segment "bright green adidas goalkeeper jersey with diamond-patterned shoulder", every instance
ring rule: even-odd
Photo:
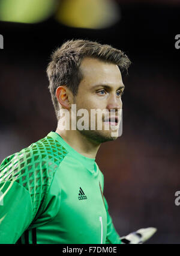
[[[121,243],[103,173],[50,132],[0,166],[0,243]]]

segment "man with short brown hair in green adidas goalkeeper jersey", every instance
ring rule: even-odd
[[[2,161],[0,243],[121,243],[95,156],[101,143],[118,137],[112,131],[122,109],[121,72],[129,66],[123,52],[88,40],[70,40],[53,52],[47,75],[58,126]],[[85,129],[74,106],[86,113]],[[95,111],[94,129],[92,109],[103,111],[101,117]]]

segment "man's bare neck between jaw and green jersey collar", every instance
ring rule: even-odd
[[[81,134],[77,130],[60,130],[58,127],[56,129],[56,133],[58,133],[71,148],[75,149],[80,154],[85,157],[95,158],[97,155],[97,151],[100,148],[100,144],[92,142],[83,134]]]

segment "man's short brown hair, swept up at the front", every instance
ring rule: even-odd
[[[79,83],[83,78],[80,70],[80,63],[84,57],[98,58],[102,61],[118,65],[119,70],[128,71],[131,61],[119,49],[111,45],[101,45],[89,40],[68,40],[57,48],[51,55],[50,63],[47,66],[47,76],[49,78],[49,90],[58,118],[59,104],[56,99],[56,89],[67,86],[74,96],[77,95]]]

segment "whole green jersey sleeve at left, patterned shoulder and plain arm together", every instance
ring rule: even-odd
[[[50,155],[43,139],[10,155],[0,166],[0,243],[16,243],[40,216],[56,169],[63,159]],[[61,154],[59,152],[59,154]]]

